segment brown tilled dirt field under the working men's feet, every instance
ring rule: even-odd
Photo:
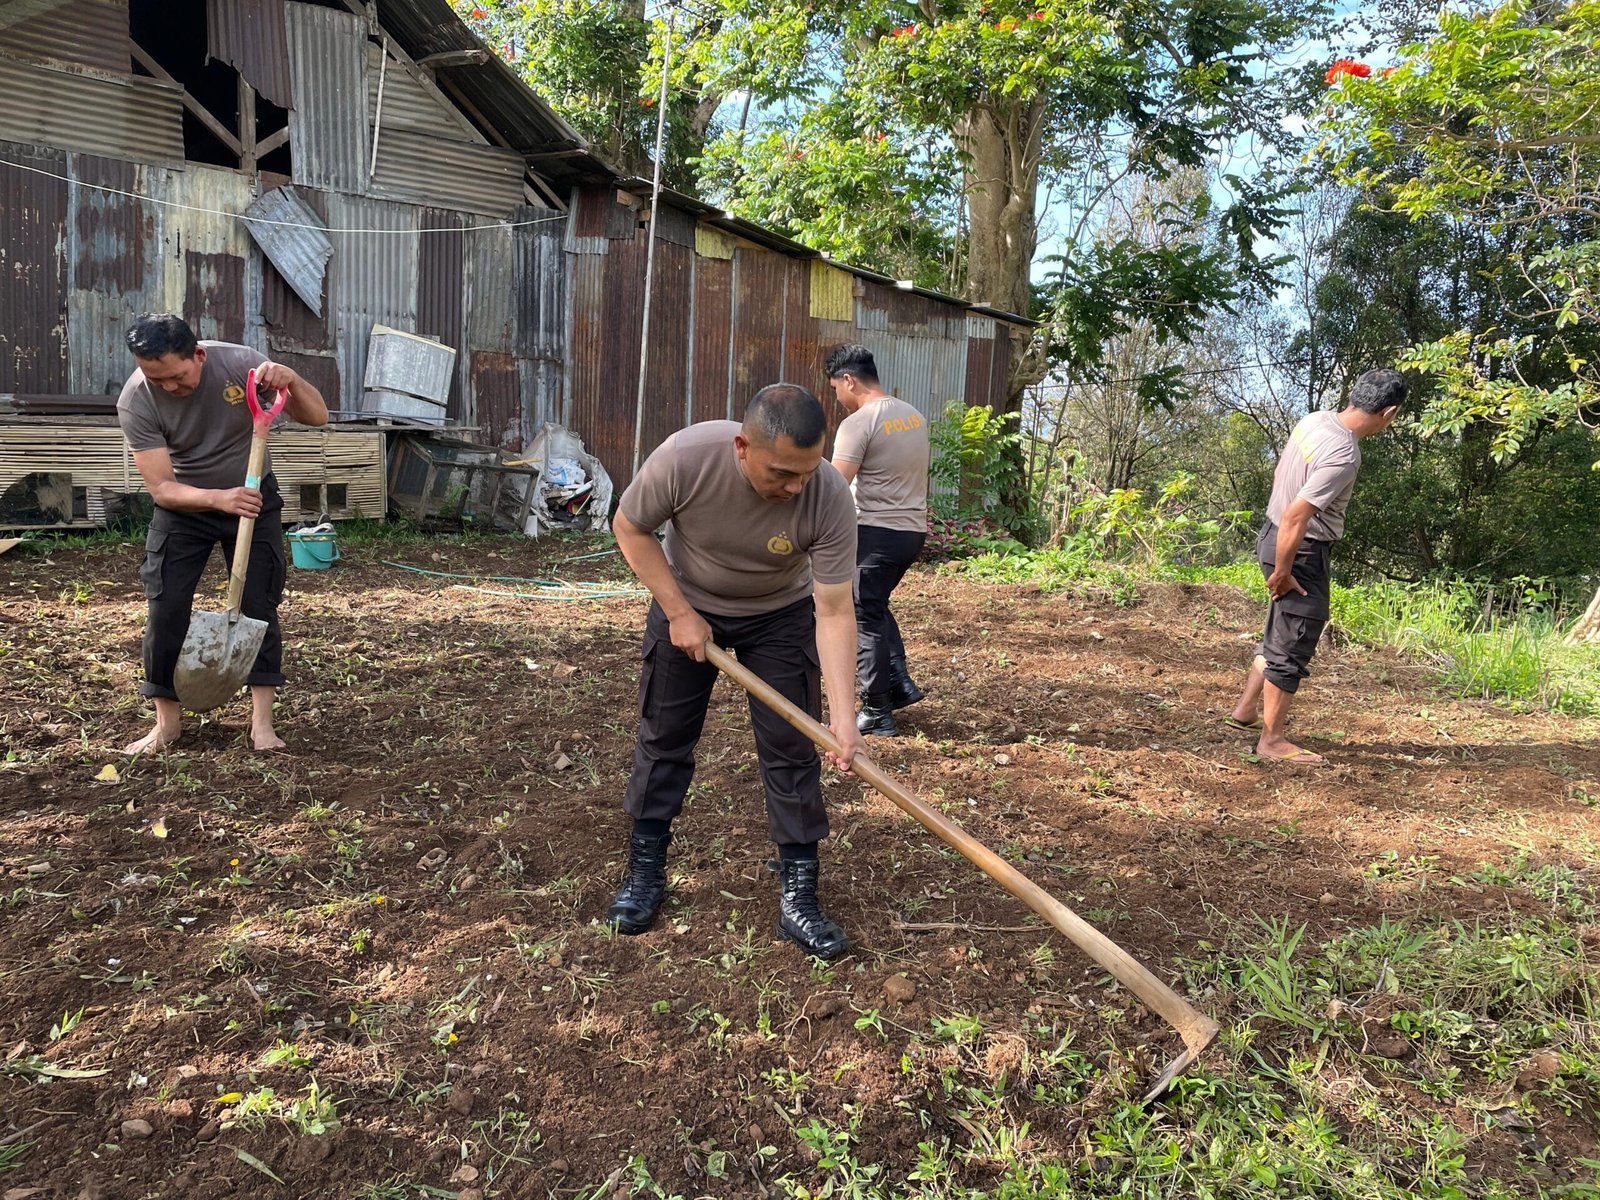
[[[822,968],[778,942],[730,685],[666,918],[632,939],[595,923],[645,603],[381,560],[622,582],[614,555],[562,562],[602,546],[397,539],[291,571],[290,752],[246,750],[235,704],[138,762],[117,754],[147,720],[136,546],[0,558],[0,1192],[1030,1194],[1005,1192],[1018,1162],[1030,1189],[1059,1170],[1082,1184],[1061,1195],[1114,1190],[1123,1150],[1091,1131],[1173,1053],[1160,1019],[850,778],[826,782],[822,886],[856,952]],[[1203,966],[1230,936],[1538,915],[1534,867],[1595,878],[1595,723],[1456,702],[1341,650],[1299,720],[1331,765],[1258,765],[1218,722],[1259,616],[1237,592],[1152,584],[1118,606],[920,568],[899,597],[928,699],[872,752],[1230,1026],[1141,1118],[1184,1146],[1248,1053],[1294,1070],[1314,1045],[1259,1018],[1240,1034],[1248,1010]],[[1597,933],[1574,934],[1590,971]],[[1541,1088],[1512,1061],[1430,1093],[1389,1019],[1405,1005],[1346,998],[1360,1024],[1302,1072],[1338,1138],[1381,1142],[1400,1106],[1458,1130],[1467,1176],[1502,1194],[1592,1181],[1600,1077]],[[920,1146],[950,1178],[915,1176]]]

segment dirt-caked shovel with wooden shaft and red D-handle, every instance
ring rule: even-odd
[[[256,373],[245,378],[245,398],[254,421],[250,438],[250,466],[245,470],[245,486],[261,486],[261,469],[267,464],[267,430],[272,418],[283,408],[288,392],[278,390],[278,402],[262,410],[256,402]],[[190,712],[210,712],[227,704],[250,678],[250,669],[261,653],[261,640],[267,635],[267,622],[240,616],[238,606],[245,597],[245,570],[250,566],[250,539],[256,533],[254,517],[238,518],[238,536],[234,539],[234,565],[227,576],[227,610],[222,613],[194,613],[189,618],[189,634],[178,651],[178,670],[173,674],[173,690],[178,702]]]

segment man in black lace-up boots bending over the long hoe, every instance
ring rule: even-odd
[[[786,699],[821,714],[850,768],[856,730],[856,510],[822,461],[827,418],[811,392],[763,387],[744,422],[706,421],[669,437],[622,493],[611,523],[618,547],[654,603],[645,626],[638,739],[622,806],[634,818],[627,877],[606,910],[621,933],[643,933],[667,894],[672,819],[694,774],[717,667],[706,643]],[[667,530],[666,546],[654,531]],[[821,760],[811,741],[750,698],[750,725],[778,843],[778,933],[806,954],[835,958],[850,941],[818,904],[818,843],[827,837]]]

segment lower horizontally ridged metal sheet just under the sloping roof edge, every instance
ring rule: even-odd
[[[515,150],[442,141],[410,130],[381,130],[378,170],[371,186],[362,190],[502,218],[522,203],[525,171]]]

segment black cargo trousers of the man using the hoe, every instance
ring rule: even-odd
[[[811,597],[758,616],[701,613],[712,638],[771,683],[786,699],[821,720],[822,670],[816,653]],[[622,808],[645,821],[672,821],[683,811],[694,778],[694,747],[717,667],[696,662],[672,645],[670,622],[651,602],[638,677],[638,741]],[[827,837],[822,762],[811,739],[750,698],[750,725],[766,790],[766,826],[778,845]]]

